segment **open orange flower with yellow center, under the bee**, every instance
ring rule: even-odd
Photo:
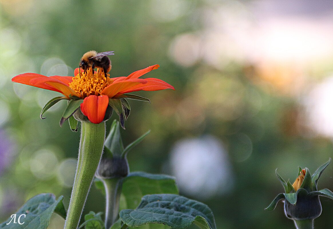
[[[113,103],[110,102],[112,99],[131,99],[131,97],[133,99],[133,97],[137,96],[128,95],[126,93],[136,91],[174,90],[171,85],[160,79],[139,79],[139,77],[159,67],[159,65],[149,66],[148,68],[130,74],[128,77],[110,78],[109,74],[105,76],[104,72],[99,69],[93,74],[92,69],[84,72],[77,68],[74,71],[75,77],[47,77],[36,73],[24,73],[15,76],[12,81],[59,92],[65,96],[62,97],[63,99],[83,100],[80,104],[81,112],[87,116],[92,123],[97,124],[104,120],[109,105],[115,109],[115,107],[112,106]],[[146,99],[146,101],[149,100]],[[119,111],[117,113],[119,113]],[[123,113],[123,111],[121,111],[121,113]],[[68,117],[65,117],[64,120],[67,118]]]

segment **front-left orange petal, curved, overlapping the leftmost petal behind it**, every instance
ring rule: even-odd
[[[42,88],[44,85],[50,85],[52,88],[59,90],[61,94],[68,97],[69,96],[77,96],[81,97],[78,93],[76,93],[73,89],[71,89],[68,84],[64,83],[57,79],[59,76],[55,77],[43,77],[43,78],[35,78],[30,80],[30,83],[34,84],[35,87]],[[65,80],[66,81],[66,80]]]

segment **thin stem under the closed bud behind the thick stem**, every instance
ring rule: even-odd
[[[105,228],[110,228],[119,218],[119,202],[122,192],[121,177],[102,179],[106,192]]]

